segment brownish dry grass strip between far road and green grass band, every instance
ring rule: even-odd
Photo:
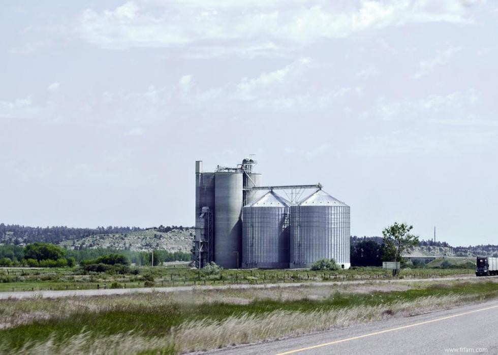
[[[470,283],[483,282],[482,279],[466,281]],[[486,280],[486,281],[489,281]],[[49,319],[54,315],[70,316],[79,312],[103,312],[122,305],[158,307],[168,303],[200,306],[215,302],[229,304],[249,304],[253,300],[324,300],[335,292],[344,294],[368,294],[372,292],[405,291],[412,288],[447,288],[459,281],[441,280],[424,282],[380,283],[371,281],[363,284],[329,284],[320,287],[272,287],[248,289],[218,289],[177,293],[150,293],[113,295],[99,297],[68,297],[64,299],[44,299],[35,297],[21,300],[0,301],[0,329],[28,324],[35,320]]]

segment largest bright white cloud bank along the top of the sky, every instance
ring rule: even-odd
[[[471,23],[471,6],[454,0],[128,1],[86,9],[76,32],[102,48],[179,48],[185,55],[282,55],[321,39],[417,22]],[[211,49],[213,49],[211,51]]]

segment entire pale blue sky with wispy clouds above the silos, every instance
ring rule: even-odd
[[[498,244],[498,3],[0,4],[0,221],[193,225],[204,170],[255,154],[351,233]]]

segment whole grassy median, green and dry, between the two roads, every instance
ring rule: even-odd
[[[226,289],[0,301],[0,352],[178,353],[498,297],[498,282]]]

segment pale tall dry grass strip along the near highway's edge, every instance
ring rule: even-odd
[[[155,353],[160,349],[166,349],[166,353],[190,352],[343,328],[392,316],[412,316],[455,307],[469,301],[469,298],[463,296],[432,296],[416,302],[398,302],[375,307],[359,306],[312,312],[275,311],[264,316],[243,314],[221,321],[205,319],[185,322],[164,337],[146,337],[130,332],[96,338],[88,332],[82,332],[72,336],[64,344],[57,344],[53,339],[48,339],[27,343],[15,352],[6,348],[0,348],[0,351],[19,354],[122,354],[143,351]]]

